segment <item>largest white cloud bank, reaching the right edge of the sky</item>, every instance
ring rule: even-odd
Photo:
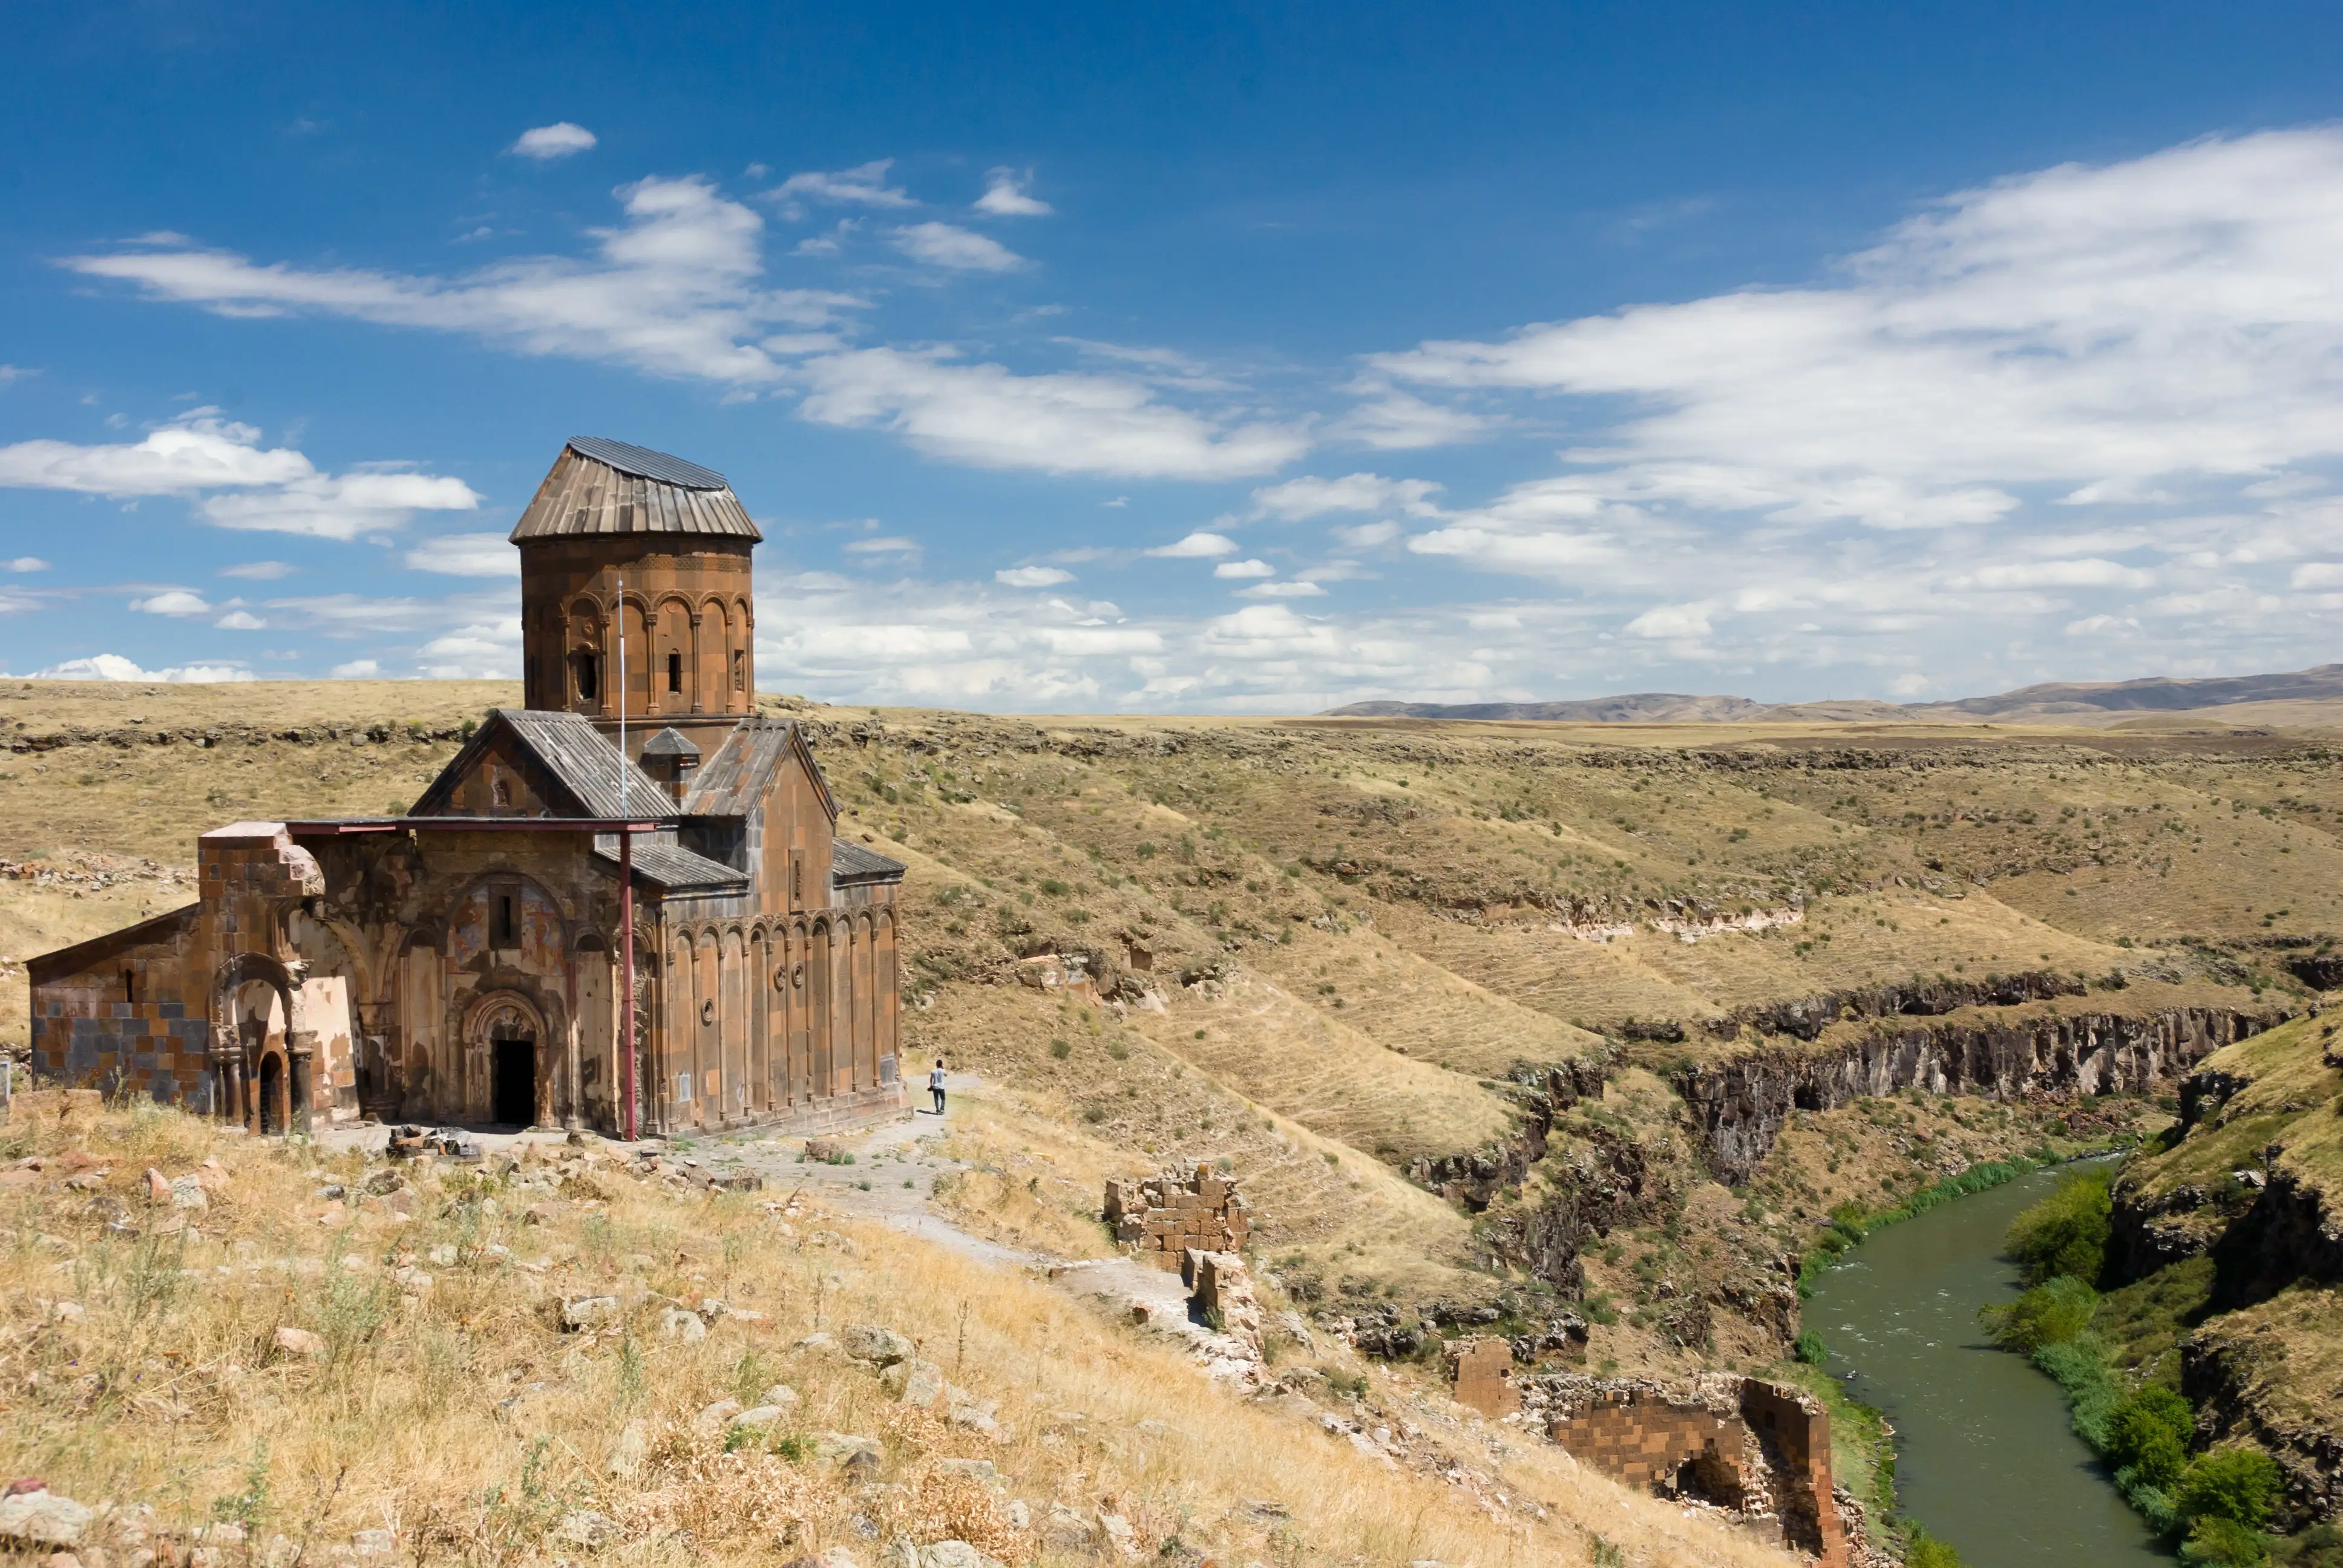
[[[2200,141],[1961,192],[1835,286],[1425,342],[1420,387],[1633,398],[1617,492],[1790,523],[1992,523],[2343,452],[2343,131]],[[2097,488],[2097,490],[2092,490]]]

